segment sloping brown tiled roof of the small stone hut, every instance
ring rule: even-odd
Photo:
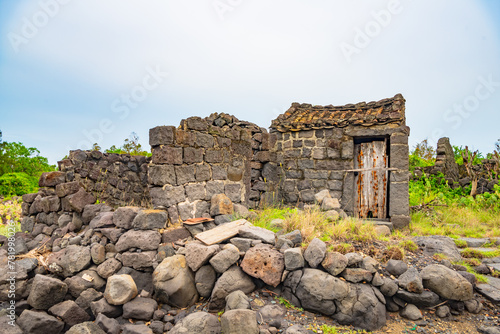
[[[405,99],[401,94],[377,102],[360,102],[337,107],[295,102],[272,122],[271,129],[288,132],[388,123],[405,124]]]

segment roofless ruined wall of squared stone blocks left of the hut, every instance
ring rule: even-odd
[[[275,179],[274,138],[226,114],[151,129],[153,206],[167,210],[172,221],[209,217],[209,202],[220,193],[233,203],[258,206]]]

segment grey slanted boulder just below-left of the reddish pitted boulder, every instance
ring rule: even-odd
[[[255,284],[238,266],[232,266],[215,283],[210,298],[210,310],[221,310],[226,303],[226,296],[233,291],[241,290],[248,294],[255,290]]]

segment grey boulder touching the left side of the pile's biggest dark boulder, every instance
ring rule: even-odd
[[[296,296],[304,309],[325,315],[335,313],[335,302],[349,293],[349,286],[342,280],[318,269],[304,269]]]

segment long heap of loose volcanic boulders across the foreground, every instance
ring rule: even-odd
[[[37,216],[55,213],[43,211],[47,206],[55,208],[51,196],[37,196],[29,210],[41,207]],[[89,194],[79,195],[78,201],[70,196],[57,199],[70,203],[68,213],[73,217],[63,213],[57,221],[41,222],[35,216],[33,225],[23,224],[31,233],[16,235],[18,255],[39,247],[52,250],[43,257],[32,252],[15,261],[18,327],[14,329],[18,333],[267,333],[268,328],[281,327],[284,313],[279,308],[258,313],[249,309],[246,295],[263,287],[297,307],[368,330],[382,327],[387,311],[415,320],[422,316],[419,308],[444,301],[447,305],[437,309],[443,316],[455,310],[481,310],[473,294],[474,277],[451,265],[418,270],[391,260],[384,266],[361,253],[329,251],[319,239],[302,249],[300,231],[275,234],[250,223],[219,244],[205,245],[196,236],[224,228],[224,222],[172,228],[162,210],[121,207],[113,211],[103,204],[83,205],[80,198]],[[317,198],[326,212],[339,214],[328,192]],[[214,195],[209,211],[227,219],[230,211],[224,210],[229,203],[224,194]],[[81,212],[76,211],[82,205]],[[81,224],[74,224],[74,217]],[[453,249],[443,248],[456,249],[454,245],[429,238],[416,241],[424,251],[456,255]],[[4,246],[0,249],[2,302],[9,300],[7,272],[12,269],[7,260]],[[478,285],[477,290],[481,289],[483,285]],[[207,312],[178,313],[179,309],[194,311],[200,300],[208,300],[207,311],[226,310],[221,322]],[[291,327],[286,333],[306,331]]]

